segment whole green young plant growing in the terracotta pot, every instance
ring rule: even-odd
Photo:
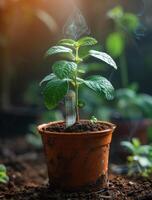
[[[79,88],[85,85],[98,95],[105,94],[107,99],[113,98],[114,88],[112,84],[103,76],[96,75],[87,79],[82,78],[85,73],[82,70],[82,63],[91,57],[104,61],[117,69],[114,60],[106,53],[93,50],[91,47],[97,44],[97,40],[92,37],[83,37],[77,41],[72,39],[62,39],[56,46],[51,47],[46,52],[46,57],[53,55],[64,56],[63,60],[56,61],[52,70],[53,73],[47,75],[40,83],[43,90],[45,105],[48,109],[57,106],[69,89],[75,92],[75,112],[76,122],[79,121]],[[80,55],[81,48],[89,46],[90,50],[85,55]]]

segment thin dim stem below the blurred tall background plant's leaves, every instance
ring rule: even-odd
[[[121,73],[121,83],[122,87],[128,87],[128,70],[127,70],[127,61],[125,53],[120,56],[120,73]]]

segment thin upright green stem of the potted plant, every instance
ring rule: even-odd
[[[79,63],[79,47],[76,47],[76,63]],[[77,83],[77,72],[75,74],[75,111],[76,111],[76,122],[79,122],[79,85]]]

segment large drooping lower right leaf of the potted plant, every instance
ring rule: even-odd
[[[104,93],[108,100],[111,100],[114,97],[113,86],[102,76],[92,76],[88,80],[83,80],[83,83],[99,95]]]

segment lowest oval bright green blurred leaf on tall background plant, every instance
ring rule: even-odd
[[[119,57],[125,47],[123,35],[119,32],[111,33],[106,40],[106,48],[108,53],[113,57]]]

